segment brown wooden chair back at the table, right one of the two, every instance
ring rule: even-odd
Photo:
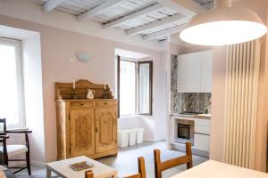
[[[173,166],[180,166],[183,164],[187,164],[187,168],[189,169],[193,166],[191,143],[190,142],[186,143],[186,156],[179,158],[172,158],[170,160],[161,162],[160,150],[154,150],[154,158],[155,158],[155,178],[162,178],[162,172],[172,168]]]

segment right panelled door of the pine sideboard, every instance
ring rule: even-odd
[[[96,153],[117,149],[117,109],[96,109]]]

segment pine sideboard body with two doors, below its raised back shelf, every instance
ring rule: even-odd
[[[56,99],[58,159],[117,154],[117,100]]]

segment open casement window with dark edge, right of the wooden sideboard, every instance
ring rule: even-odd
[[[152,115],[153,61],[134,61],[118,56],[120,116]]]

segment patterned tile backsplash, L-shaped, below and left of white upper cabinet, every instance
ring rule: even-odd
[[[211,93],[177,93],[178,56],[172,55],[171,112],[211,113]]]

